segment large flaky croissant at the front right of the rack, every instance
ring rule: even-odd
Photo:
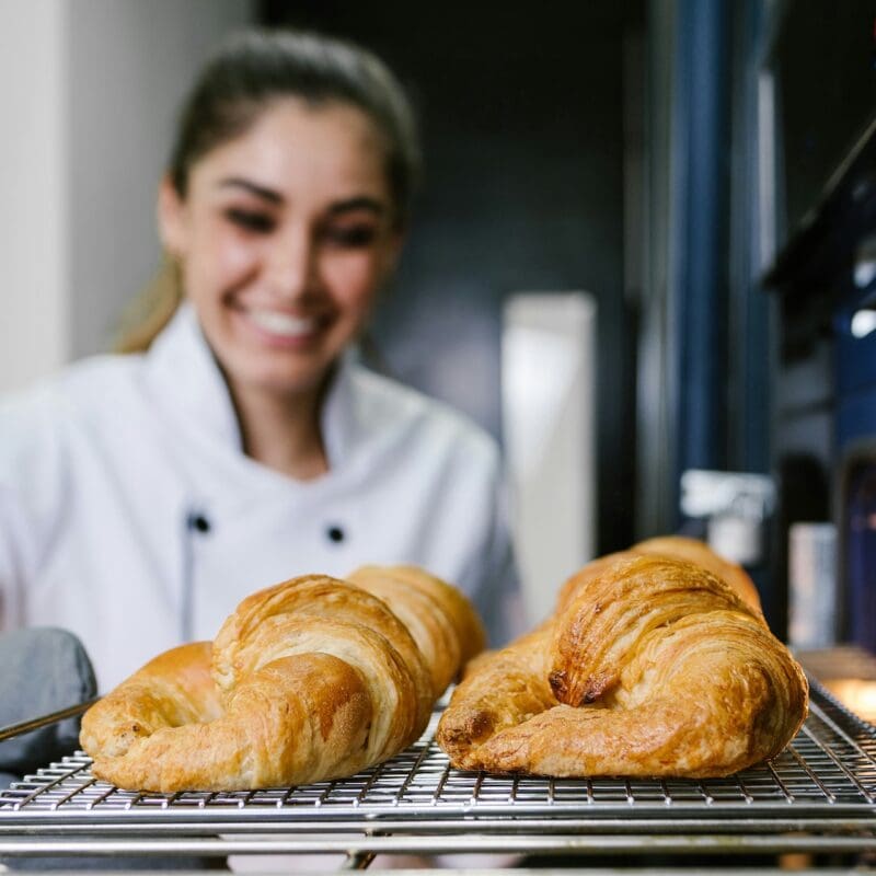
[[[597,560],[475,661],[438,744],[457,768],[551,776],[717,777],[774,757],[808,685],[747,589],[647,549]]]

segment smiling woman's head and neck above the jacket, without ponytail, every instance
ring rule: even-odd
[[[361,50],[247,33],[207,65],[159,222],[254,459],[327,471],[320,395],[395,263],[417,163],[404,95]]]

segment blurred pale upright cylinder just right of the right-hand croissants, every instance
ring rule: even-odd
[[[788,644],[798,650],[837,643],[837,527],[788,529]]]

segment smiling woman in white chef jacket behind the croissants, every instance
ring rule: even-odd
[[[108,689],[261,587],[405,562],[469,592],[494,644],[516,632],[494,443],[351,353],[416,164],[371,55],[268,32],[220,48],[159,193],[182,300],[128,338],[143,353],[0,404],[3,625],[72,631]]]

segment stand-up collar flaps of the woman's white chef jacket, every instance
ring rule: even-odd
[[[357,434],[351,387],[353,354],[342,357],[323,400],[320,422],[330,469],[348,456]],[[241,450],[242,439],[231,393],[201,331],[195,309],[184,301],[147,354],[162,397],[198,431]]]

